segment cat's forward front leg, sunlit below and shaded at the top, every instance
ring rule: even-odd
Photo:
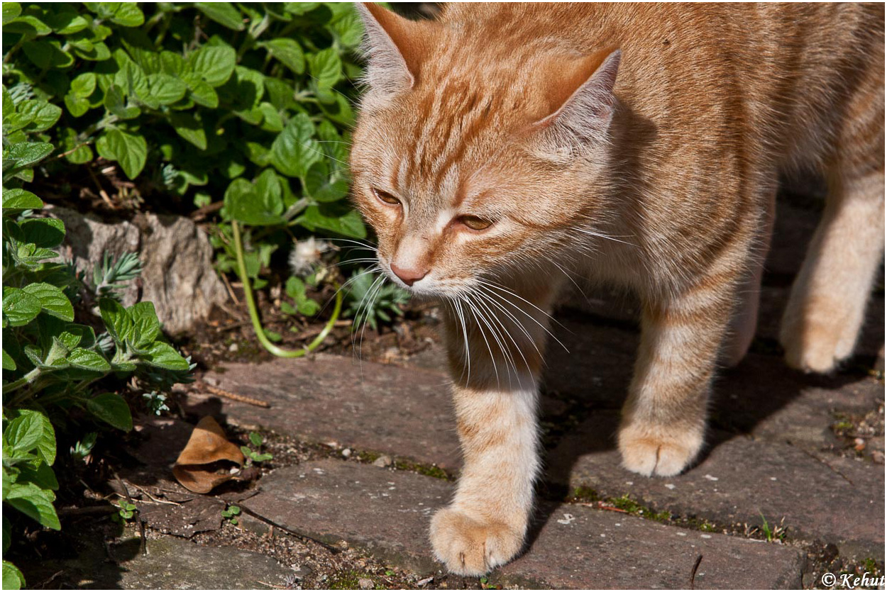
[[[514,301],[503,307],[494,319],[488,300],[479,303],[479,318],[461,309],[447,320],[463,469],[430,534],[436,557],[460,575],[488,573],[522,549],[539,468],[537,383],[546,316]]]

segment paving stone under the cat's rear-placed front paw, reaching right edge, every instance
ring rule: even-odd
[[[778,441],[714,432],[711,448],[685,473],[647,478],[624,470],[616,450],[616,414],[593,415],[549,455],[547,479],[591,487],[722,525],[782,524],[792,539],[835,543],[845,556],[884,551],[881,466]]]

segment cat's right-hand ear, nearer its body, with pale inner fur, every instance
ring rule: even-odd
[[[608,49],[563,64],[547,86],[550,113],[537,121],[545,149],[569,156],[607,141],[616,109],[616,72],[622,51]]]

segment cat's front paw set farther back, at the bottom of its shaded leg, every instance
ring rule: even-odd
[[[622,465],[647,477],[671,477],[689,466],[703,448],[703,430],[664,430],[623,425],[619,430]]]

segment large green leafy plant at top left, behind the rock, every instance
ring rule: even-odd
[[[104,160],[135,182],[135,203],[158,189],[195,207],[223,196],[217,268],[259,289],[295,235],[366,237],[345,199],[362,35],[347,3],[6,3],[4,81],[50,104],[31,111],[61,153],[36,181]]]

